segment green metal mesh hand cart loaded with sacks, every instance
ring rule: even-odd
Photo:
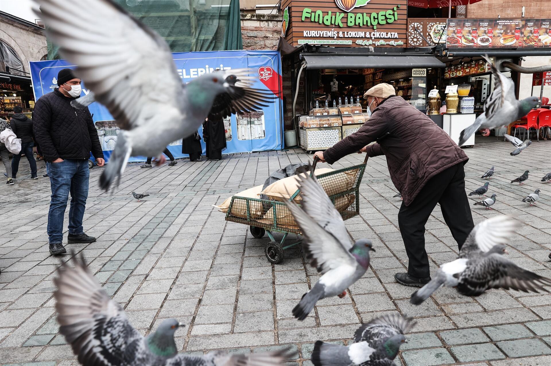
[[[315,158],[310,176],[316,168],[317,161],[318,159]],[[343,220],[359,214],[359,186],[367,162],[368,157],[366,156],[363,164],[317,176],[318,182],[320,182],[337,211],[341,213]],[[295,200],[299,193],[300,189],[296,190],[290,200]],[[295,202],[300,204],[299,200],[295,200]],[[271,241],[264,248],[264,254],[266,254],[268,261],[275,264],[283,261],[283,251],[285,249],[301,243],[301,240],[299,240],[292,244],[284,244],[289,233],[302,235],[284,202],[234,196],[231,198],[225,219],[249,225],[250,232],[255,238],[262,238],[267,233]],[[273,236],[273,232],[283,233],[283,238],[277,241]]]

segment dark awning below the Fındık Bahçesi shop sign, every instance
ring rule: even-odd
[[[301,53],[306,60],[306,68],[433,68],[446,67],[446,64],[433,55],[327,55],[320,53]]]

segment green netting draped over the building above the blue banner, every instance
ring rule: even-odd
[[[228,13],[237,7],[232,21],[233,31],[241,24],[239,1],[232,0],[113,0],[128,13],[159,33],[172,52],[225,50]],[[234,6],[233,3],[236,3]],[[231,6],[230,6],[231,4]],[[237,28],[236,27],[237,24]],[[231,49],[230,49],[231,50]],[[48,60],[60,58],[57,47],[48,40]]]

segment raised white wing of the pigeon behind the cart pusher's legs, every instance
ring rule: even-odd
[[[490,198],[488,198],[490,199]],[[460,256],[474,250],[489,251],[494,245],[507,243],[520,223],[510,216],[499,215],[477,224],[461,247]]]

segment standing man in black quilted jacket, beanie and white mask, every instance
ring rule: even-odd
[[[90,151],[98,166],[104,165],[104,156],[88,108],[71,106],[71,101],[80,96],[81,80],[75,78],[71,69],[62,69],[57,74],[58,88],[42,95],[34,108],[34,134],[50,174],[52,196],[48,212],[48,236],[50,253],[66,253],[63,247],[63,215],[71,192],[69,208],[68,243],[93,243],[96,238],[84,234],[82,218],[88,198],[88,158]]]

